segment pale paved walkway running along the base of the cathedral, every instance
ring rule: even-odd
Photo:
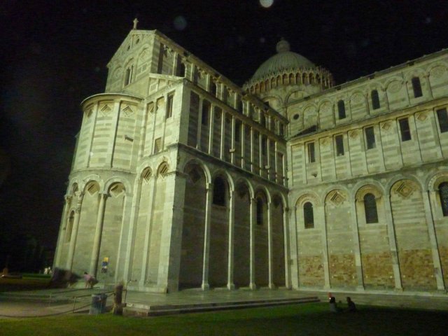
[[[86,313],[90,307],[92,294],[102,293],[102,289],[48,289],[20,292],[0,293],[0,318],[8,317],[32,317],[51,316],[71,312]],[[111,294],[111,293],[110,293]],[[356,304],[371,304],[386,307],[405,307],[419,309],[435,309],[448,311],[447,293],[413,293],[395,292],[381,293],[356,292],[356,291],[332,291],[337,302],[345,302],[345,297],[350,296]],[[134,309],[153,309],[151,307],[169,306],[218,306],[231,307],[230,304],[246,304],[250,307],[253,302],[299,302],[304,298],[317,297],[323,302],[328,300],[328,292],[325,290],[182,290],[177,293],[159,294],[129,291],[123,296],[123,300]],[[295,300],[295,302],[294,302]],[[108,306],[113,298],[108,298]]]

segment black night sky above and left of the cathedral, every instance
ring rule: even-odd
[[[3,0],[0,164],[10,170],[0,235],[55,246],[80,102],[104,92],[106,64],[136,17],[239,85],[281,37],[337,83],[448,47],[446,1]]]

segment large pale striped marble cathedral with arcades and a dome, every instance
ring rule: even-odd
[[[448,50],[335,85],[281,40],[239,87],[134,22],[108,68],[55,267],[157,293],[446,292]]]

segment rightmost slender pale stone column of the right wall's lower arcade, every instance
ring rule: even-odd
[[[431,211],[431,204],[429,200],[429,193],[422,191],[423,206],[425,208],[426,225],[428,225],[428,235],[431,246],[431,253],[433,255],[434,276],[437,282],[437,290],[445,290],[444,279],[442,274],[442,264],[440,262],[440,254],[437,243],[437,235],[435,234],[433,211]]]

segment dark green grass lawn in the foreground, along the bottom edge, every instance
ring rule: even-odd
[[[330,313],[327,303],[151,318],[102,314],[0,319],[1,335],[448,335],[440,311],[358,307]]]

